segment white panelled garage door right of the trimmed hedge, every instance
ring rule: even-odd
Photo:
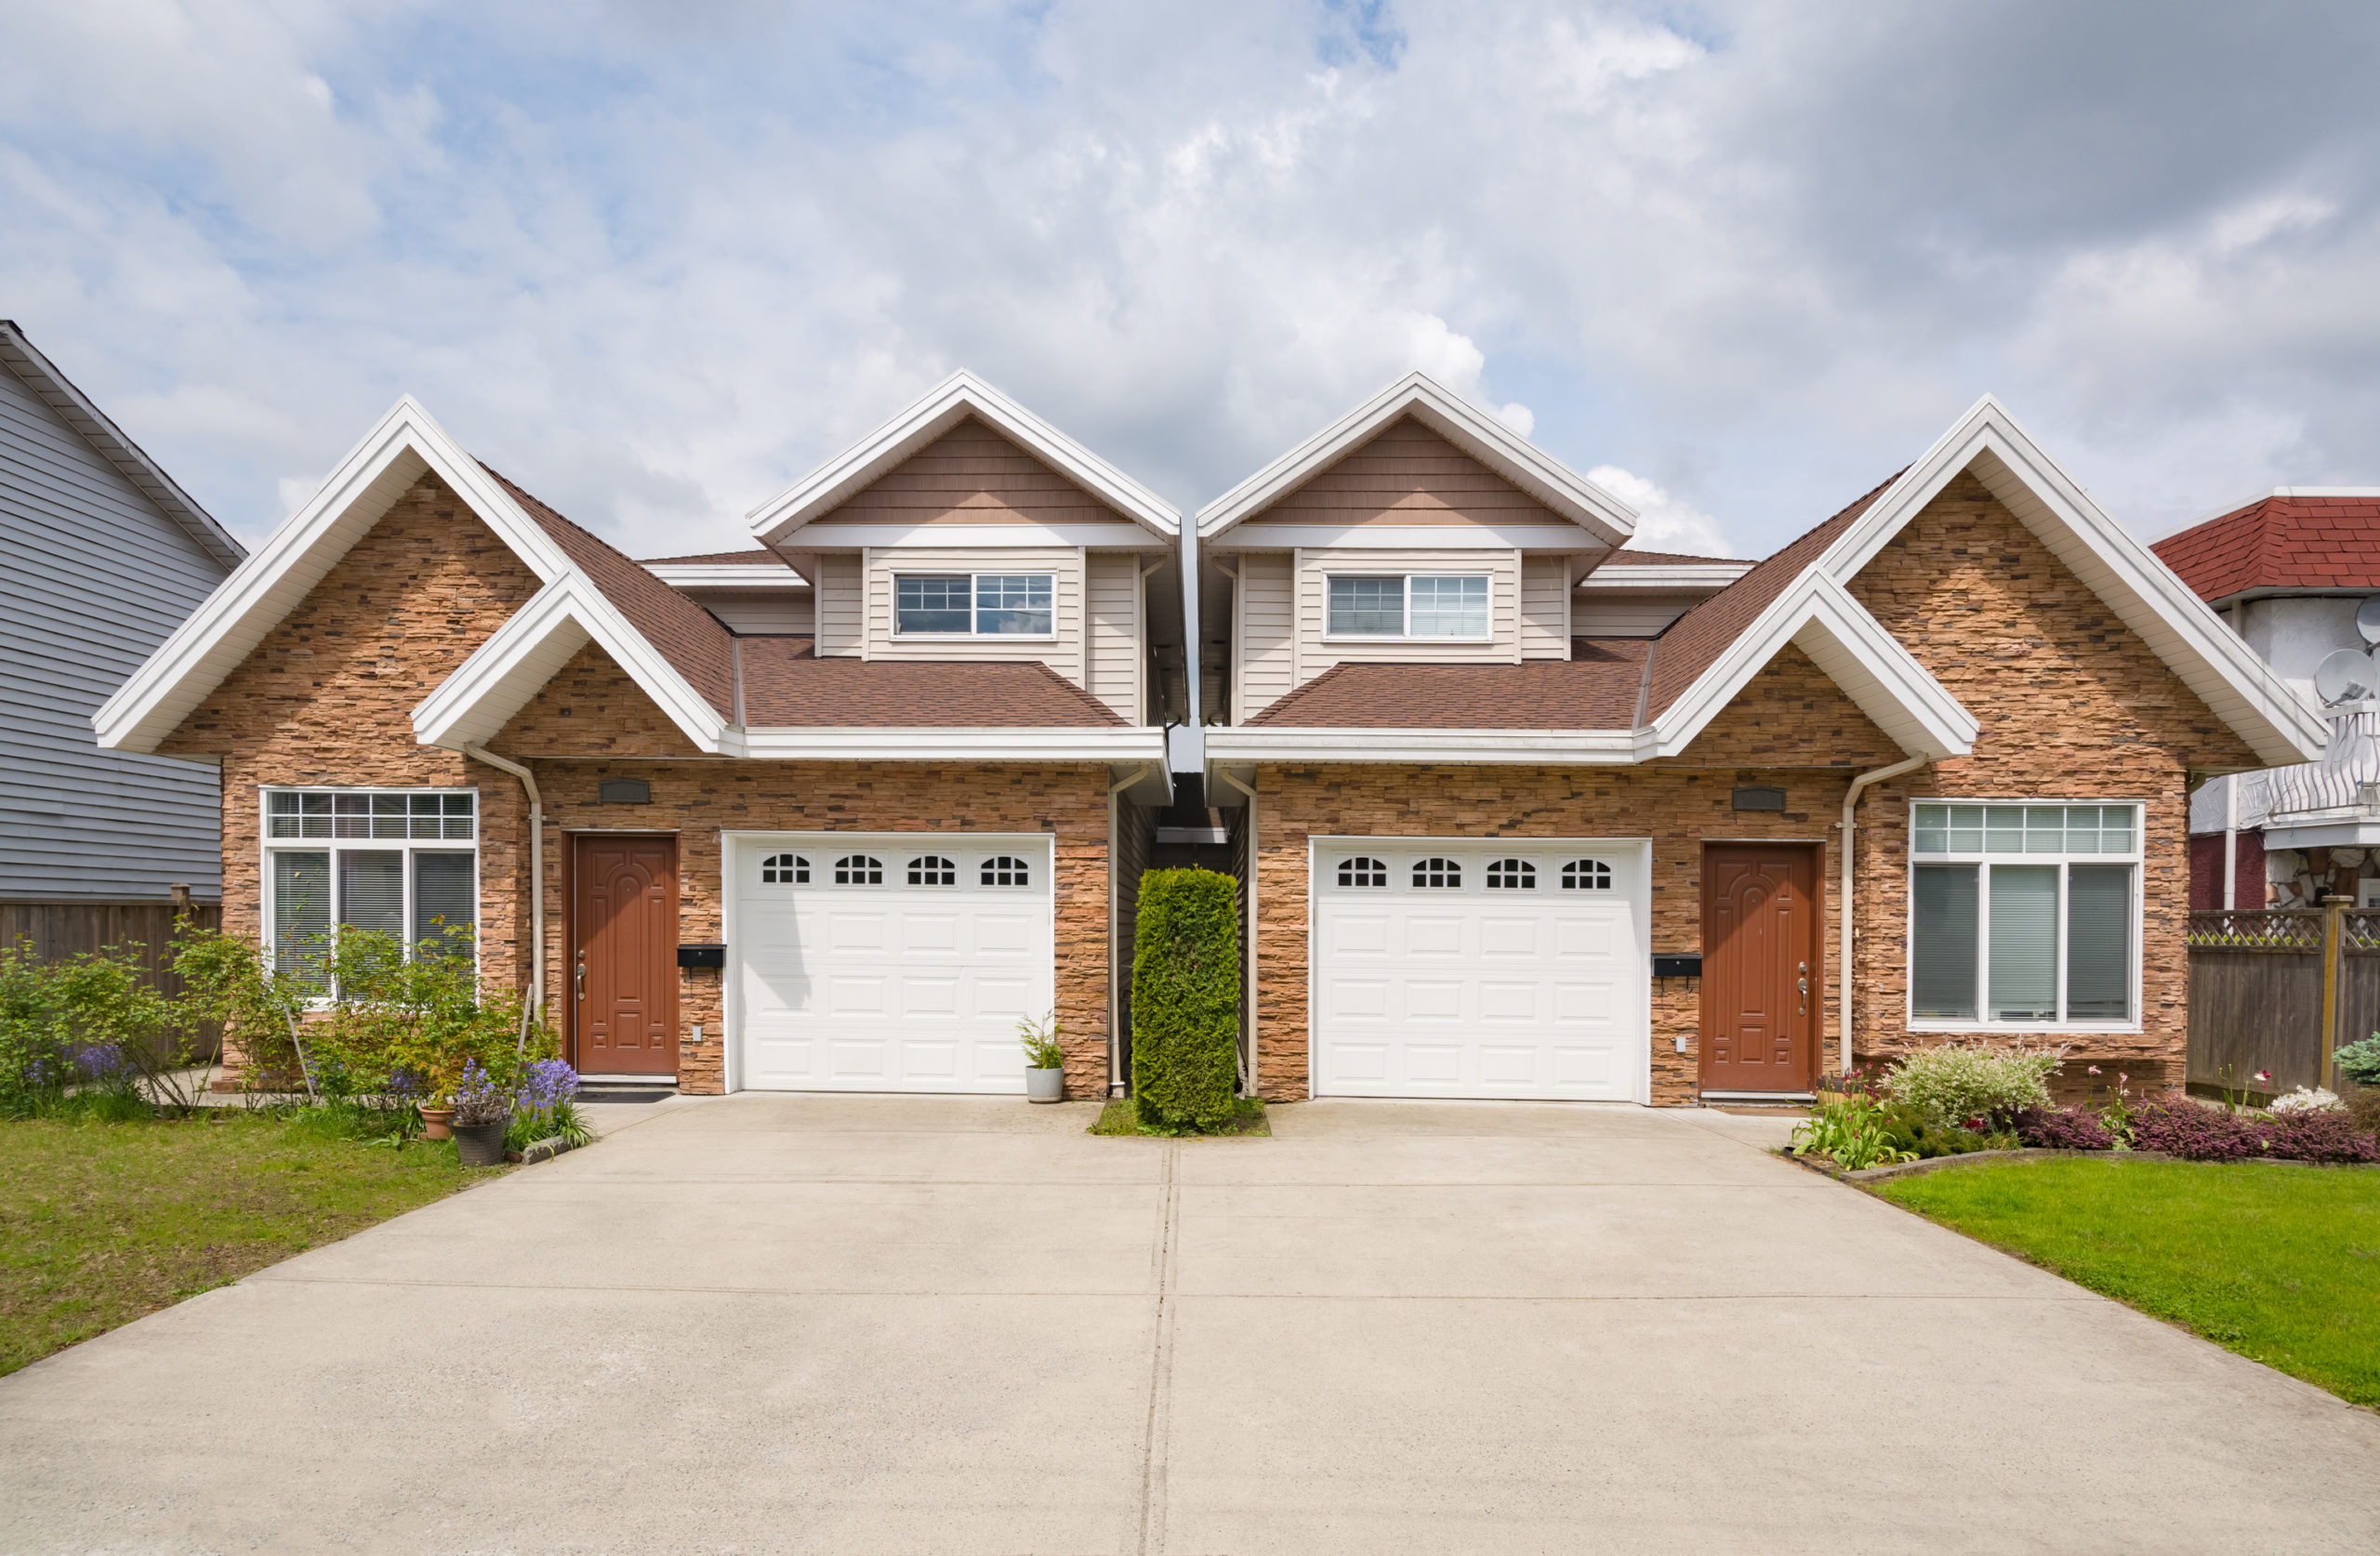
[[[1642,842],[1314,840],[1314,1090],[1647,1102]]]

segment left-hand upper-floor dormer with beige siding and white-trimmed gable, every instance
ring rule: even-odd
[[[1164,652],[1180,516],[971,374],[754,509],[752,533],[802,585],[774,611],[743,576],[700,588],[714,611],[807,616],[821,659],[1038,661],[1130,723],[1183,716]]]

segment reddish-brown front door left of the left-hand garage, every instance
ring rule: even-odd
[[[678,840],[581,833],[571,878],[574,1064],[588,1075],[676,1075]]]

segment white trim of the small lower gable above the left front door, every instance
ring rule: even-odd
[[[612,654],[695,749],[726,749],[726,719],[576,573],[538,590],[421,699],[414,740],[447,749],[493,740],[588,642]]]

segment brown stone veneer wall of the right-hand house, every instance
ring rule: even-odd
[[[2190,771],[2254,754],[1973,476],[1961,476],[1859,573],[1852,595],[1983,723],[1971,757],[1861,797],[1854,1064],[1942,1042],[1906,1023],[1909,802],[2144,802],[2142,1025],[2063,1035],[2061,1090],[2180,1085],[2187,1037]],[[1307,840],[1314,835],[1652,837],[1652,949],[1702,949],[1704,840],[1818,842],[1825,918],[1823,1064],[1840,1056],[1840,816],[1859,771],[1902,752],[1797,650],[1783,650],[1676,759],[1645,766],[1276,764],[1257,773],[1257,1066],[1269,1099],[1309,1094]],[[1783,814],[1735,811],[1778,785]],[[1699,987],[1652,997],[1652,1097],[1697,1097]],[[1685,1054],[1676,1040],[1685,1037]]]

